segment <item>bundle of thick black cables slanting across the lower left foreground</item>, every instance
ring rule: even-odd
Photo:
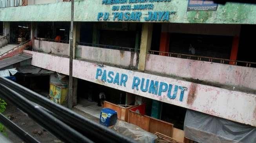
[[[60,104],[51,102],[42,95],[0,76],[0,98],[15,105],[45,130],[65,143],[136,143],[114,130],[75,113]],[[4,122],[5,126],[8,122]],[[37,142],[22,130],[11,128],[28,143]],[[20,133],[20,134],[19,134]]]

